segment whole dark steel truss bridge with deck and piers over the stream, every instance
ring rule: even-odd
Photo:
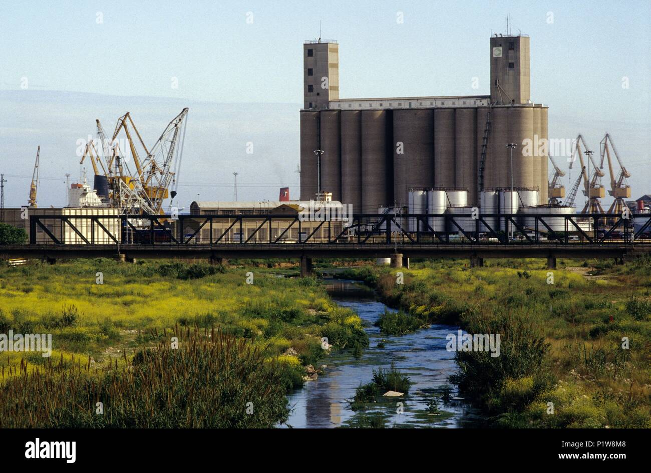
[[[648,213],[384,213],[353,215],[345,223],[304,221],[296,213],[35,214],[29,244],[0,245],[0,258],[301,258],[304,272],[312,258],[392,258],[396,266],[409,257],[470,258],[471,265],[484,258],[547,258],[555,267],[556,258],[650,254],[650,232]]]

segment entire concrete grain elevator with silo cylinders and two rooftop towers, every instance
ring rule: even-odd
[[[376,213],[408,206],[410,189],[465,189],[471,206],[512,182],[547,204],[547,146],[523,155],[525,140],[548,137],[547,107],[531,100],[529,36],[492,36],[490,58],[490,96],[341,99],[339,44],[305,42],[301,200],[327,191]]]

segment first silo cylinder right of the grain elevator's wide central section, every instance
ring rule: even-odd
[[[434,186],[454,187],[454,109],[434,111]]]

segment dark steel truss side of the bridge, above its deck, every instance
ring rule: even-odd
[[[30,215],[31,244],[475,245],[651,241],[651,215],[631,213],[360,214],[346,220],[297,214]]]

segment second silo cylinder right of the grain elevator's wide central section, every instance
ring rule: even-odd
[[[468,189],[468,202],[477,198],[477,109],[456,109],[454,113],[454,187]],[[481,144],[480,144],[481,146]]]

